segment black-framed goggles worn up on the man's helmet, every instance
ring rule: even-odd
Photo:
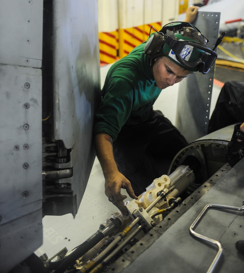
[[[217,58],[217,53],[203,44],[188,41],[174,40],[171,37],[165,39],[165,43],[172,49],[171,55],[175,55],[176,60],[189,69],[198,68],[199,72],[206,74]],[[196,51],[199,56],[197,60],[191,61],[191,54]],[[195,53],[195,52],[194,52]]]

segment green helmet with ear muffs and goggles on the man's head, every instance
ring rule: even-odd
[[[198,28],[187,22],[169,23],[150,36],[144,53],[151,63],[166,56],[180,67],[206,74],[217,58],[217,53],[207,47],[209,40]]]

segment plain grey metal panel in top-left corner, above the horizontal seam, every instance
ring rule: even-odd
[[[0,63],[41,67],[43,1],[0,1]]]

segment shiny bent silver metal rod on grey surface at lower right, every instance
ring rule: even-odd
[[[211,238],[208,238],[204,235],[201,235],[197,232],[194,231],[194,228],[196,227],[196,225],[200,222],[200,219],[203,217],[203,215],[206,213],[206,211],[210,208],[216,208],[216,209],[228,209],[228,210],[244,210],[244,206],[242,207],[232,207],[232,206],[225,206],[225,205],[219,205],[219,204],[208,204],[206,205],[203,210],[199,213],[199,215],[197,216],[197,218],[195,219],[195,221],[191,224],[190,226],[190,233],[199,238],[199,239],[202,239],[203,241],[206,241],[208,243],[212,243],[214,245],[217,245],[218,247],[218,252],[215,256],[215,258],[213,259],[213,262],[211,263],[207,273],[212,273],[213,270],[215,269],[215,266],[217,265],[218,261],[219,261],[219,258],[221,257],[221,254],[222,254],[222,251],[223,251],[223,248],[222,248],[222,245],[219,241],[216,241],[214,239],[211,239]]]

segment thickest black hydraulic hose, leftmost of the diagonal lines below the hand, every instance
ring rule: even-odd
[[[72,253],[67,255],[64,259],[58,262],[46,263],[46,267],[50,270],[55,270],[55,273],[63,273],[69,266],[73,265],[77,259],[82,257],[87,251],[98,244],[109,233],[118,228],[121,225],[121,221],[118,217],[114,219],[105,229],[98,230],[90,238],[88,238],[83,244],[79,245]]]

